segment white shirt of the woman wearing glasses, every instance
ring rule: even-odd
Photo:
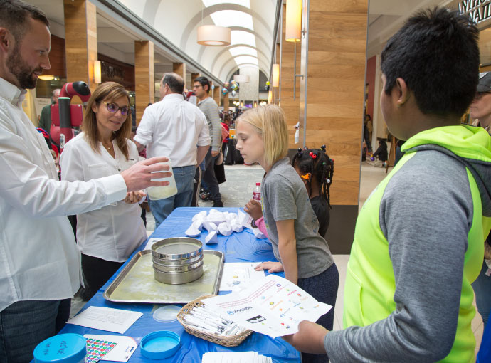
[[[127,140],[128,159],[112,140],[113,158],[99,143],[94,152],[85,134],[70,140],[60,157],[61,179],[89,181],[119,174],[138,162],[137,146]],[[77,244],[83,254],[106,261],[125,262],[147,239],[139,204],[118,201],[77,216]]]

